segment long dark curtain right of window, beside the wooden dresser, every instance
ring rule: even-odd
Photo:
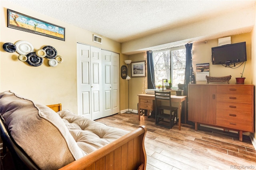
[[[186,117],[188,118],[188,84],[195,84],[196,79],[192,67],[192,43],[187,43],[185,45],[186,47],[186,67],[185,67],[185,78],[184,78],[184,89],[183,89],[183,95],[187,96],[186,98]],[[181,114],[181,122],[185,122],[185,107],[182,105],[182,114]]]

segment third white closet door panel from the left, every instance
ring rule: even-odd
[[[103,117],[112,115],[112,52],[102,50]]]

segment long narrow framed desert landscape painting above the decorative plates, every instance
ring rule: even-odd
[[[7,27],[65,41],[65,28],[7,9]]]

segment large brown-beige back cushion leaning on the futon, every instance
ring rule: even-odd
[[[0,114],[12,138],[41,169],[58,169],[86,155],[47,106],[5,91],[0,93]]]

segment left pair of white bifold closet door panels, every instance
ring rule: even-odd
[[[101,49],[77,43],[78,115],[102,117]]]

